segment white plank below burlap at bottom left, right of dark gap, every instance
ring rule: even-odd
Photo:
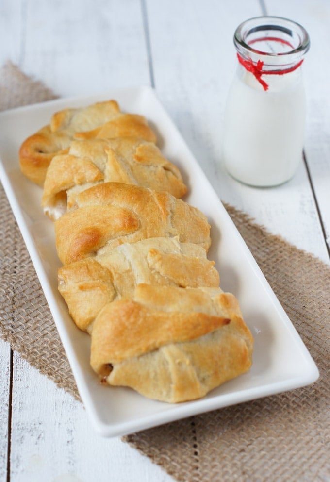
[[[79,401],[14,357],[12,482],[170,482],[157,465],[91,427]]]

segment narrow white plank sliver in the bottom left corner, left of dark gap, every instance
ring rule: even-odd
[[[7,481],[10,417],[11,356],[9,343],[0,339],[0,482]]]

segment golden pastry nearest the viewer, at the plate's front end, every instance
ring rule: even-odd
[[[138,285],[101,310],[91,337],[103,382],[165,402],[203,397],[251,366],[251,333],[220,288]]]

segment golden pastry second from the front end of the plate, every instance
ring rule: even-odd
[[[104,305],[132,298],[138,283],[163,286],[219,286],[219,274],[205,249],[175,238],[124,243],[58,270],[58,289],[78,328],[91,332]]]

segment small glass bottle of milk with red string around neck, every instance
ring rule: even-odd
[[[236,29],[238,66],[225,111],[223,155],[232,177],[253,186],[288,181],[302,159],[306,30],[280,17]]]

